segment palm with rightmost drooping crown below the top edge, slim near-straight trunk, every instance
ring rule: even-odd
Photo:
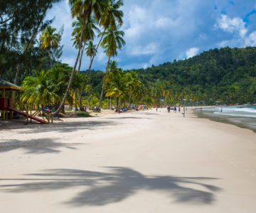
[[[119,26],[117,26],[117,28],[114,30],[110,27],[107,29],[105,38],[102,40],[101,46],[104,49],[104,53],[106,53],[108,57],[108,62],[107,62],[107,68],[106,68],[104,80],[102,83],[102,92],[100,95],[99,105],[97,109],[100,109],[100,105],[102,102],[104,89],[105,89],[105,81],[107,77],[107,71],[110,65],[110,58],[117,56],[117,50],[121,50],[122,45],[125,45],[125,41],[122,38],[123,36],[124,36],[124,31],[119,31]]]

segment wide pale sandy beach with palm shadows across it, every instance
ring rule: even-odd
[[[0,124],[0,212],[256,212],[250,130],[166,109]]]

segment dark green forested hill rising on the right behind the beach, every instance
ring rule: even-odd
[[[147,87],[156,90],[161,87],[172,97],[229,104],[256,102],[256,48],[209,50],[193,58],[137,72]]]

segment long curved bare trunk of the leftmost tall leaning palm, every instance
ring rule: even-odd
[[[77,56],[77,58],[75,60],[75,65],[73,67],[73,71],[72,71],[71,76],[70,76],[70,81],[68,82],[68,88],[67,88],[67,90],[65,92],[65,96],[63,98],[63,102],[61,102],[60,107],[53,113],[53,116],[58,115],[60,110],[64,107],[65,100],[68,97],[68,92],[70,90],[71,84],[73,82],[73,77],[75,75],[75,68],[78,65],[78,60],[79,60],[79,57],[80,57],[80,51],[81,51],[81,48],[82,48],[82,38],[83,38],[83,35],[84,35],[84,31],[85,31],[85,18],[83,18],[83,23],[82,23],[82,35],[81,35],[81,38],[80,38],[80,45],[79,45],[79,50],[78,50],[78,56]]]

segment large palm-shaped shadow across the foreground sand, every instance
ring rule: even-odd
[[[147,176],[123,167],[107,167],[111,173],[87,170],[53,169],[45,173],[28,174],[35,178],[0,179],[24,181],[21,184],[0,185],[5,192],[39,192],[81,187],[71,200],[63,202],[75,207],[99,206],[120,202],[135,195],[139,190],[163,191],[174,202],[191,204],[211,204],[215,200],[213,192],[220,188],[205,184],[216,178],[189,178],[174,176]],[[26,176],[28,176],[26,175]]]

